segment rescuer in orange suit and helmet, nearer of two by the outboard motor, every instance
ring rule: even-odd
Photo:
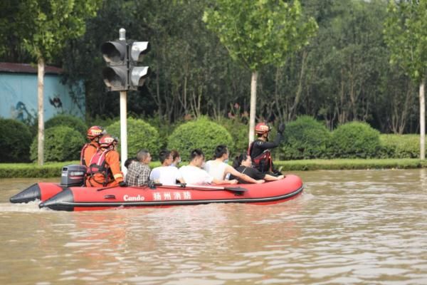
[[[86,187],[127,186],[120,171],[120,155],[116,150],[118,140],[104,135],[99,143],[99,149],[90,160]]]

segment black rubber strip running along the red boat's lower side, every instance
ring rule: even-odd
[[[241,199],[201,199],[201,200],[174,200],[159,202],[58,202],[58,205],[68,207],[136,207],[136,206],[169,206],[169,205],[190,205],[190,204],[209,204],[209,203],[256,203],[256,202],[273,202],[287,199],[300,194],[304,186],[286,195],[265,197],[265,198],[241,198]],[[47,206],[49,207],[49,206]]]

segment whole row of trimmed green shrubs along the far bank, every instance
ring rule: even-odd
[[[112,121],[110,121],[111,123]],[[128,157],[147,149],[154,160],[162,148],[176,149],[183,160],[189,152],[201,148],[210,159],[216,145],[228,145],[232,155],[246,152],[248,127],[239,120],[223,119],[218,123],[202,117],[186,123],[154,128],[144,120],[128,118]],[[46,122],[44,160],[60,162],[78,160],[85,143],[87,126],[78,118],[58,115]],[[160,132],[159,132],[159,130]],[[107,133],[120,138],[120,121],[106,127]],[[31,144],[28,127],[16,120],[0,119],[0,162],[37,160],[37,137]],[[162,135],[160,135],[162,134]],[[271,139],[275,138],[275,128]],[[288,123],[283,144],[275,149],[275,160],[330,158],[416,158],[419,156],[418,135],[380,135],[367,123],[352,122],[330,132],[325,125],[309,116]],[[31,145],[31,147],[30,147]],[[119,144],[120,147],[120,144]],[[119,149],[120,151],[120,149]]]

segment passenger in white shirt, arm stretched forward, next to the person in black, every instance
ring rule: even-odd
[[[224,180],[226,175],[229,173],[233,175],[233,177],[237,178],[240,181],[244,181],[246,183],[263,183],[265,182],[262,178],[258,178],[257,180],[253,179],[246,175],[246,173],[238,172],[234,169],[234,167],[228,165],[226,162],[228,161],[228,148],[226,145],[218,145],[215,150],[215,160],[209,160],[206,162],[204,169],[209,173],[212,177],[215,177],[218,180]]]

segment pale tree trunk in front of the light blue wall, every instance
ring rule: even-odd
[[[43,110],[43,78],[44,78],[44,59],[38,58],[37,66],[37,97],[38,97],[38,148],[37,157],[38,165],[43,165],[44,162],[44,110]]]

